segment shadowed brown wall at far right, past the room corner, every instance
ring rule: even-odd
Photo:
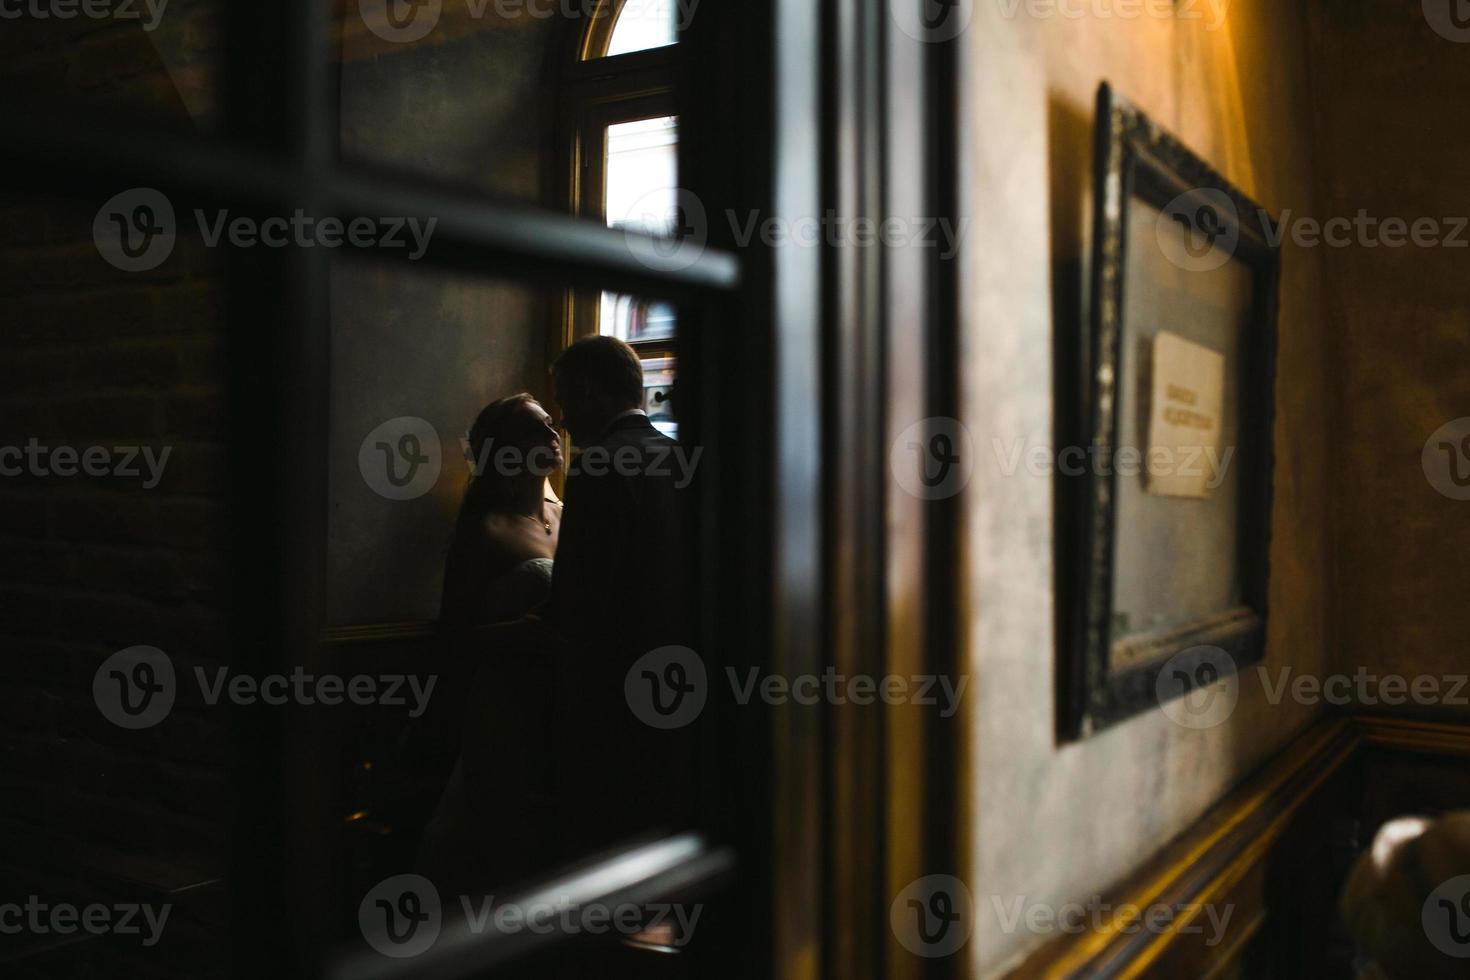
[[[1389,704],[1402,695],[1380,689],[1366,710],[1464,720],[1470,501],[1435,489],[1421,454],[1442,426],[1470,417],[1470,32],[1435,34],[1417,0],[1313,10],[1327,212],[1430,222],[1417,244],[1388,247],[1374,234],[1324,251],[1338,395],[1338,669],[1432,680],[1423,691],[1444,695]],[[1461,425],[1463,439],[1470,423]],[[1444,480],[1446,458],[1435,463]]]

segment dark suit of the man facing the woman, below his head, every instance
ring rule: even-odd
[[[689,494],[678,444],[644,416],[573,458],[545,619],[557,657],[563,857],[686,818],[692,729],[639,721],[623,682],[644,654],[688,645]]]

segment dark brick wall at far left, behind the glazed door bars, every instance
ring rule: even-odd
[[[209,13],[172,0],[154,31],[116,19],[7,21],[0,75],[51,115],[207,129]],[[150,486],[144,460],[137,475],[101,476],[3,460],[0,902],[173,909],[153,948],[137,937],[54,948],[54,932],[0,936],[0,973],[206,976],[222,937],[219,895],[179,889],[218,879],[228,861],[228,718],[181,698],[160,724],[129,732],[98,710],[93,679],[126,646],[157,646],[181,669],[225,651],[222,256],[181,235],[157,269],[123,272],[93,241],[103,200],[6,191],[0,447],[147,447],[163,466]],[[44,469],[57,463],[66,458],[47,455]]]

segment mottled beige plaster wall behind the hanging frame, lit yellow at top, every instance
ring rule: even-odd
[[[1299,4],[1200,0],[1136,19],[1102,16],[1107,0],[1064,6],[1089,13],[976,0],[961,38],[961,207],[973,220],[963,420],[979,454],[966,497],[975,976],[1054,937],[1025,920],[1007,929],[1000,909],[1105,893],[1320,711],[1269,704],[1251,670],[1216,729],[1152,711],[1057,743],[1053,485],[1025,467],[1007,476],[995,445],[1051,441],[1053,350],[1076,342],[1086,281],[1098,82],[1270,210],[1317,210]],[[1283,263],[1266,666],[1320,674],[1330,649],[1330,323],[1322,254],[1288,244]]]

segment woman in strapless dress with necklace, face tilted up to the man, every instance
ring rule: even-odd
[[[551,773],[532,765],[551,735],[550,670],[523,633],[482,627],[519,620],[550,594],[562,502],[547,478],[562,469],[562,441],[522,392],[485,406],[469,448],[475,476],[444,561],[440,626],[456,660],[476,667],[460,758],[419,848],[441,895],[516,882],[551,846]]]

